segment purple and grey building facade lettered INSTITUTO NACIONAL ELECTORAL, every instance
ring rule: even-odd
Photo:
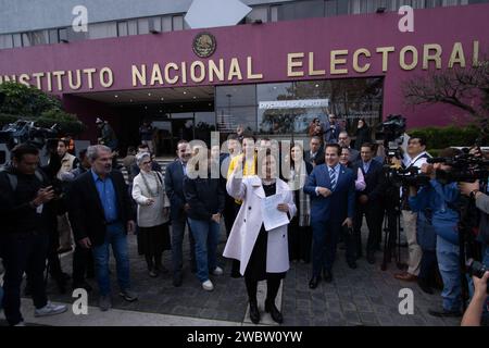
[[[452,107],[409,105],[403,86],[489,51],[488,1],[242,2],[252,10],[239,25],[190,29],[190,0],[0,0],[0,83],[59,95],[88,125],[85,137],[95,139],[100,116],[125,145],[137,144],[143,119],[162,144],[190,124],[198,138],[237,124],[301,136],[331,112],[352,133],[360,117],[374,127],[389,114],[409,127],[463,119]],[[86,32],[72,26],[77,4]],[[403,4],[415,9],[414,32],[400,29]]]

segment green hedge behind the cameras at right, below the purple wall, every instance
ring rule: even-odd
[[[427,149],[443,149],[451,146],[472,146],[479,137],[480,128],[475,125],[425,127],[411,129],[411,137],[424,137]],[[487,146],[487,144],[482,144]]]

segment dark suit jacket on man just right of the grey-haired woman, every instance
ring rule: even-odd
[[[170,215],[172,220],[180,220],[185,216],[184,177],[180,160],[176,160],[166,166],[165,191],[170,199]]]

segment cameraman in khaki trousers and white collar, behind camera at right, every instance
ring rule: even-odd
[[[408,142],[408,151],[404,154],[403,166],[405,169],[421,169],[429,154],[426,150],[426,141],[421,137],[410,138]],[[405,231],[405,237],[408,239],[409,262],[408,271],[394,274],[397,279],[404,282],[414,282],[419,274],[419,266],[423,257],[423,251],[416,240],[416,220],[417,214],[411,211],[408,202],[408,192],[402,190],[402,220]]]

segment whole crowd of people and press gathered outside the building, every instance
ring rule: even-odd
[[[123,161],[128,183],[113,165],[113,130],[101,120],[97,123],[104,129],[105,140],[101,142],[105,145],[90,146],[79,158],[68,153],[66,141],[60,139],[49,164],[39,167],[39,150],[18,145],[12,151],[11,164],[0,172],[0,220],[5,226],[0,233],[0,257],[5,269],[3,308],[9,324],[23,324],[20,301],[24,273],[36,315],[66,310],[48,301],[43,273],[48,260],[49,272],[64,290],[68,276],[61,270],[58,252],[71,249],[73,244],[74,288],[90,291],[86,278],[95,277],[100,310],[111,308],[112,248],[120,295],[126,301],[137,300],[129,272],[130,233],[137,234],[138,252],[146,259],[148,275],[171,273],[173,285],[179,287],[188,231],[190,269],[202,289],[211,291],[212,277],[224,275],[217,251],[223,220],[227,233],[223,256],[233,260],[229,276],[244,278],[251,321],[261,320],[256,288],[258,282],[266,279],[264,308],[281,323],[284,316],[275,300],[291,261],[311,263],[309,287],[314,290],[322,281],[333,282],[340,243],[352,272],[363,256],[369,264],[378,262],[379,251],[391,256],[401,240],[392,232],[384,237],[389,240],[384,240],[387,248],[383,248],[383,223],[393,213],[388,192],[397,192],[408,240],[406,266],[396,278],[417,282],[424,291],[432,294],[439,273],[442,306],[429,313],[461,316],[456,203],[464,196],[476,202],[480,215],[477,239],[484,251],[480,261],[489,265],[487,187],[478,182],[440,182],[437,172],[450,167],[446,163],[429,164],[426,140],[419,137],[409,139],[402,158],[386,157],[372,142],[364,120],[359,122],[352,147],[350,135],[336,119],[331,114],[327,124],[311,124],[308,149],[302,141],[256,140],[242,128],[228,136],[224,151],[218,146],[208,149],[183,139],[164,175],[147,136],[150,125],[145,123],[141,145],[137,150],[128,149]],[[457,150],[451,148],[440,153],[447,158],[456,154]],[[416,169],[429,176],[429,184],[391,187],[386,163]],[[271,201],[274,206],[266,206]],[[367,236],[363,246],[364,222]],[[394,228],[391,222],[388,228]],[[72,235],[74,243],[70,240]],[[162,264],[165,251],[172,256],[171,271]],[[487,307],[480,290],[484,281],[474,283],[475,295],[467,311],[471,318],[463,321],[466,324],[477,322]]]

